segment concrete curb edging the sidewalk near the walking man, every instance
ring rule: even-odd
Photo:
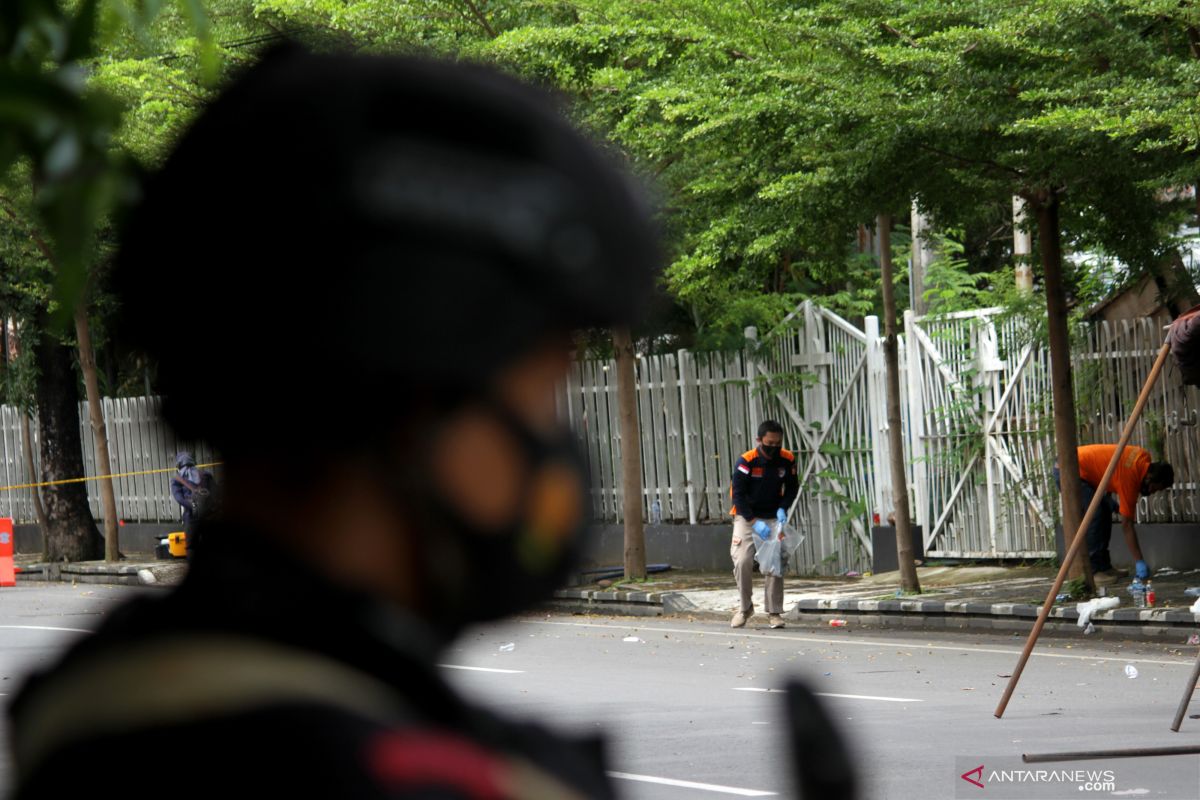
[[[688,593],[594,591],[564,589],[554,593],[557,608],[584,613],[636,616],[686,614],[712,620],[728,620],[724,612],[700,608]],[[827,626],[846,620],[847,627],[892,627],[928,631],[989,631],[1026,633],[1033,627],[1040,607],[1028,603],[940,602],[930,600],[824,600],[804,599],[784,614],[788,622]],[[1074,606],[1050,610],[1046,632],[1082,636]],[[1176,608],[1126,608],[1092,616],[1097,638],[1146,638],[1186,642],[1200,633],[1200,614]],[[1092,637],[1088,637],[1092,638]]]

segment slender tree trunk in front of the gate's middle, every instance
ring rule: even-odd
[[[908,513],[908,480],[904,462],[904,428],[900,420],[900,348],[896,339],[896,297],[892,278],[892,216],[876,221],[880,235],[880,270],[883,273],[883,360],[888,368],[888,451],[892,462],[892,501],[896,517],[896,561],[900,587],[919,593],[917,564],[912,555],[912,519]]]

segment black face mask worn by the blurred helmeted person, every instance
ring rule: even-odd
[[[466,519],[424,470],[410,473],[401,488],[406,507],[424,511],[418,529],[427,531],[414,548],[427,599],[419,613],[451,636],[468,624],[524,610],[562,588],[587,533],[587,468],[569,434],[534,433],[496,401],[482,398],[478,405],[523,451],[516,517],[494,528]]]

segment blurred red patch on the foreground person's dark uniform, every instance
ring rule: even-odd
[[[503,800],[504,764],[467,739],[446,734],[390,733],[367,750],[371,774],[402,788],[446,787],[478,800]]]

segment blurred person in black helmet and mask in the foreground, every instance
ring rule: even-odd
[[[234,80],[113,271],[222,505],[178,589],[10,705],[16,796],[137,758],[172,796],[611,798],[594,735],[437,664],[574,569],[590,506],[557,390],[574,331],[640,320],[656,242],[624,170],[492,70],[284,47]],[[162,336],[181,313],[215,320],[199,362]]]

